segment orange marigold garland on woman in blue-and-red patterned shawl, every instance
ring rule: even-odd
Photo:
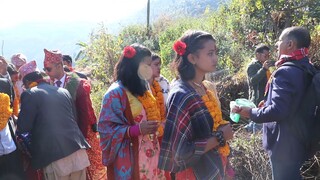
[[[157,100],[149,91],[146,91],[143,96],[138,96],[138,100],[146,111],[148,121],[161,121],[161,114],[157,105]],[[163,132],[163,127],[159,126],[157,136],[161,137]]]

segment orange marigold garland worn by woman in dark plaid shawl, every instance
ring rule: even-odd
[[[202,96],[202,100],[209,110],[209,113],[214,120],[213,130],[216,131],[220,125],[228,124],[229,122],[222,119],[222,112],[219,107],[218,101],[213,95],[213,92],[207,90],[206,94]],[[219,153],[223,156],[228,156],[230,154],[230,147],[228,143],[225,146],[219,147]]]

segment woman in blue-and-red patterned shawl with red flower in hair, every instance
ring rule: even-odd
[[[126,46],[114,70],[114,83],[102,101],[98,123],[108,179],[165,179],[157,168],[160,109],[150,91],[151,52]]]

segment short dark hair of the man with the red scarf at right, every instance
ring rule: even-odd
[[[310,32],[299,26],[293,26],[284,30],[284,36],[297,42],[297,48],[309,48],[311,44]]]

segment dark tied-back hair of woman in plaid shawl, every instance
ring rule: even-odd
[[[203,43],[208,40],[215,42],[213,36],[205,31],[188,30],[182,35],[180,41],[187,45],[186,52],[182,56],[176,54],[175,61],[172,64],[179,78],[188,81],[195,77],[195,67],[188,61],[188,55],[198,53],[198,50],[204,48]]]

